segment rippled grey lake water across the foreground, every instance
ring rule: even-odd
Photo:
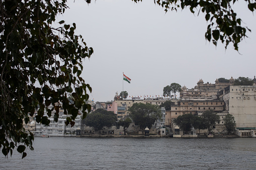
[[[256,169],[256,138],[35,137],[0,169]]]

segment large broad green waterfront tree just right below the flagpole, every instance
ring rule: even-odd
[[[157,105],[150,103],[134,103],[129,109],[129,116],[139,125],[140,130],[144,131],[146,127],[149,129],[154,122],[161,117],[161,111]]]

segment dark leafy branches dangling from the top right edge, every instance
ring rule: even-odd
[[[132,0],[135,3],[142,0]],[[242,27],[242,20],[236,18],[234,5],[236,0],[227,1],[208,1],[208,0],[154,0],[154,3],[161,6],[165,12],[169,10],[177,11],[177,8],[189,8],[191,13],[195,14],[198,10],[205,14],[205,20],[209,22],[205,33],[205,39],[211,41],[217,46],[218,40],[225,43],[227,46],[232,43],[234,49],[238,51],[238,44],[245,38],[246,31],[250,30],[247,27]],[[256,9],[255,0],[245,0],[248,4],[248,10],[253,12]]]

